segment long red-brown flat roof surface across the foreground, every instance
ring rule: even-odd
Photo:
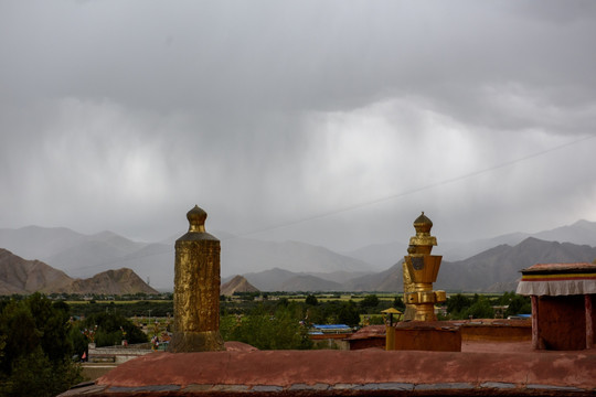
[[[596,351],[535,352],[530,342],[462,352],[152,353],[66,396],[594,396]]]

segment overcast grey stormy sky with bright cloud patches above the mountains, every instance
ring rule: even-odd
[[[337,250],[596,221],[593,1],[0,0],[0,228]]]

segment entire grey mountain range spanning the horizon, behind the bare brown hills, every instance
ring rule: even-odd
[[[404,242],[361,247],[338,254],[297,242],[263,242],[225,233],[221,238],[222,279],[244,277],[263,291],[400,291]],[[596,258],[596,223],[535,234],[512,233],[467,243],[443,243],[436,288],[462,291],[514,289],[519,270],[536,262],[592,261]],[[29,226],[0,229],[0,247],[39,259],[78,278],[98,271],[129,268],[160,290],[173,287],[173,239],[132,242],[110,232],[83,235],[67,228]],[[383,270],[384,269],[384,270]]]

